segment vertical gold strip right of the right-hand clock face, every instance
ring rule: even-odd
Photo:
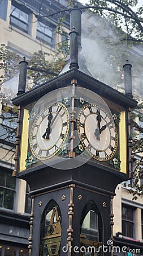
[[[125,111],[120,113],[119,122],[119,144],[120,144],[120,171],[127,174],[127,129],[125,122]]]

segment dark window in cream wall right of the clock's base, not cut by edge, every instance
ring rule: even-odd
[[[134,214],[135,209],[128,206],[122,205],[122,234],[126,237],[134,238]]]

